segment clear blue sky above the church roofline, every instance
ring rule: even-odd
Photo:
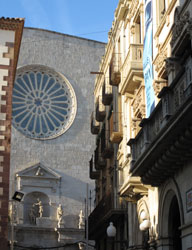
[[[107,42],[118,1],[2,0],[0,17],[22,17],[25,27]]]

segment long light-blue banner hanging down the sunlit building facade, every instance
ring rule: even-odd
[[[146,117],[149,117],[155,107],[153,89],[153,26],[152,1],[145,0],[145,39],[143,44],[143,75],[145,81]]]

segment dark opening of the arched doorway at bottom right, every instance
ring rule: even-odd
[[[182,250],[181,242],[181,218],[179,212],[179,204],[176,195],[173,196],[168,217],[168,234],[170,238],[170,250]]]

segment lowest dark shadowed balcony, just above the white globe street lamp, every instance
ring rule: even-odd
[[[115,203],[112,193],[105,195],[89,215],[89,239],[95,239],[99,237],[99,234],[106,233],[109,220],[118,220],[120,216],[125,214],[125,210],[120,204],[116,206]]]

